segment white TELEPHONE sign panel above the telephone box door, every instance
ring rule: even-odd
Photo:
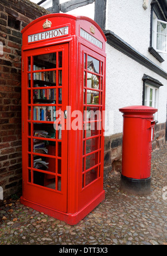
[[[49,38],[54,38],[57,36],[66,36],[68,35],[68,26],[57,28],[56,30],[48,30],[41,33],[36,33],[28,36],[28,42],[36,42],[41,40],[46,40]]]

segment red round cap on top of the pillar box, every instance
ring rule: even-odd
[[[120,108],[119,111],[124,114],[154,114],[158,109],[143,105],[135,105]]]

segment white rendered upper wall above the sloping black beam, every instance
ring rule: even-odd
[[[111,30],[136,51],[148,57],[161,69],[167,70],[167,54],[161,54],[165,60],[160,63],[148,51],[150,46],[151,0],[148,8],[143,8],[143,0],[107,0],[106,30]]]

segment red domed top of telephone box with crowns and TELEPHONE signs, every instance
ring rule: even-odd
[[[105,51],[106,37],[100,26],[89,17],[51,13],[29,23],[21,31],[23,48],[32,44],[51,44],[58,39],[67,40],[70,36],[80,37],[88,44]],[[28,49],[28,48],[27,48]],[[24,50],[24,49],[23,49]]]

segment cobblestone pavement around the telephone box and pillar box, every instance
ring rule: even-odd
[[[0,205],[0,244],[166,245],[167,144],[153,152],[151,162],[150,195],[122,194],[120,175],[110,175],[104,182],[105,201],[75,226],[19,200],[4,201]]]

